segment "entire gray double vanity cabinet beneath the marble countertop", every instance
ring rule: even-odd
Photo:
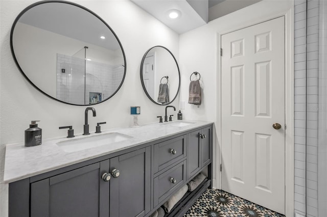
[[[11,182],[9,216],[149,217],[207,170],[207,179],[167,214],[183,216],[212,184],[212,128],[208,124]]]

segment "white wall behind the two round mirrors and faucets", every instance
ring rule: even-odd
[[[41,120],[43,138],[65,135],[59,126],[73,125],[82,133],[85,106],[54,101],[33,88],[17,69],[10,51],[11,25],[18,13],[36,1],[0,1],[1,10],[1,71],[0,71],[0,181],[3,180],[5,145],[24,141],[24,130],[31,120]],[[97,117],[90,117],[90,130],[106,121],[103,129],[128,127],[132,123],[130,106],[141,106],[139,124],[156,122],[164,115],[164,106],[155,105],[144,93],[139,66],[144,53],[162,45],[179,57],[179,36],[130,1],[73,1],[97,13],[115,31],[126,54],[127,72],[122,88],[111,99],[94,105]],[[172,104],[178,107],[179,99]],[[177,111],[174,115],[177,118]],[[0,216],[7,216],[8,185],[0,184]]]

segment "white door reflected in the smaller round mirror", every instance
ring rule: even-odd
[[[151,98],[155,98],[154,95],[154,83],[155,83],[155,66],[154,55],[146,57],[143,63],[143,82]]]

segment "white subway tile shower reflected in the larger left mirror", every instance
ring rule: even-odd
[[[62,73],[65,69],[65,73]],[[86,74],[85,74],[86,70]],[[91,103],[90,93],[100,93],[102,100],[111,96],[121,85],[124,66],[111,66],[95,61],[57,54],[57,99],[72,104]]]

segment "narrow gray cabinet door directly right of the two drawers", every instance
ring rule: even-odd
[[[201,168],[200,165],[200,130],[188,134],[188,179]]]

